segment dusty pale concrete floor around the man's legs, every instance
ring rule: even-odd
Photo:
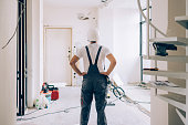
[[[128,87],[126,87],[128,88]],[[128,90],[125,91],[127,94],[129,93]],[[132,87],[133,88],[133,87]],[[34,108],[29,110],[29,114],[23,116],[22,118],[31,118],[36,117],[33,119],[28,121],[18,121],[17,125],[79,125],[80,123],[80,91],[81,87],[61,87],[60,88],[60,100],[53,102],[48,110],[40,110],[36,111]],[[133,92],[133,91],[132,91]],[[135,91],[136,92],[136,91]],[[138,91],[137,91],[138,92]],[[111,102],[115,100],[113,94],[111,94],[111,98],[107,101]],[[106,117],[108,125],[150,125],[150,117],[143,112],[140,112],[137,106],[132,104],[121,102],[117,100],[115,106],[107,106],[106,107]],[[55,114],[49,114],[44,116],[40,116],[46,113],[54,113],[59,111],[64,111],[69,107],[76,107],[69,110],[67,113],[61,112]],[[147,104],[147,107],[149,105]],[[21,118],[21,117],[18,117]],[[95,104],[92,104],[91,117],[88,125],[96,125],[96,112],[95,112]]]

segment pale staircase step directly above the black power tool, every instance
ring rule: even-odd
[[[150,39],[150,42],[161,42],[161,43],[184,45],[184,46],[188,45],[188,39],[187,38],[178,38],[178,37],[156,38],[156,39]]]

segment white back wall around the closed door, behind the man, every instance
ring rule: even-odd
[[[79,20],[77,13],[90,14],[91,20]],[[92,18],[97,18],[97,11],[94,8],[65,8],[59,4],[49,4],[44,2],[44,27],[54,28],[72,28],[72,55],[76,53],[76,49],[86,45],[87,30],[91,27],[96,27],[96,21]],[[75,48],[74,48],[75,46]],[[81,71],[83,70],[82,60],[80,61]],[[74,72],[73,72],[74,73]],[[79,85],[82,79],[72,73],[73,85]]]

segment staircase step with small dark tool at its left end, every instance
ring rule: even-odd
[[[143,74],[147,75],[158,75],[174,79],[188,79],[188,72],[173,72],[173,71],[147,71],[144,70]]]

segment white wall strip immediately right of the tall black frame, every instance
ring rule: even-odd
[[[28,0],[28,106],[32,107],[43,82],[43,0]]]

